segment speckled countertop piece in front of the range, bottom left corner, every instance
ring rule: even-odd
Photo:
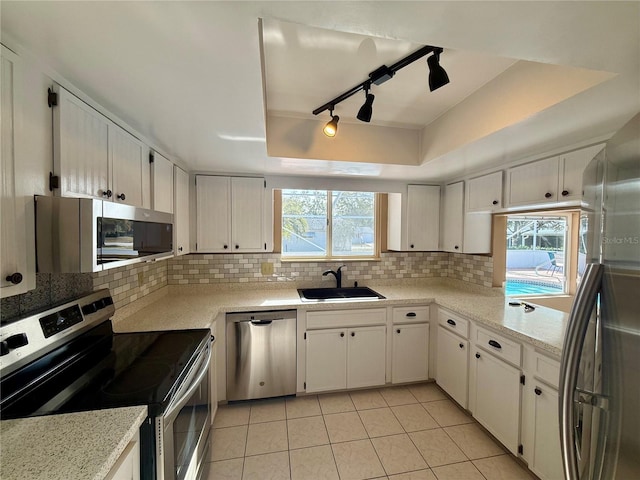
[[[3,420],[2,480],[103,479],[147,417],[147,407]]]

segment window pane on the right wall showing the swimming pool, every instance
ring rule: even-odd
[[[507,217],[506,295],[565,292],[566,230],[564,217]]]

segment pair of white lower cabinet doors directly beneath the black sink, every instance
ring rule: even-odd
[[[310,330],[306,336],[307,392],[384,385],[385,326]]]

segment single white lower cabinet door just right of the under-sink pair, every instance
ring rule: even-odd
[[[391,345],[391,383],[429,378],[429,324],[394,325]]]

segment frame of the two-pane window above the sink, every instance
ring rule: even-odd
[[[309,191],[321,191],[327,194],[327,252],[333,254],[333,212],[332,212],[332,199],[333,192],[363,192],[373,193],[373,225],[374,225],[374,245],[372,255],[283,255],[282,252],[282,191],[283,190],[309,190]],[[386,223],[385,213],[385,200],[386,195],[378,192],[366,192],[364,190],[329,190],[329,189],[304,189],[304,188],[282,188],[274,191],[274,253],[280,253],[280,261],[282,262],[353,262],[353,261],[379,261],[382,250],[382,237],[383,233],[386,233],[386,229],[383,231],[383,224]],[[277,251],[276,248],[277,247]]]

